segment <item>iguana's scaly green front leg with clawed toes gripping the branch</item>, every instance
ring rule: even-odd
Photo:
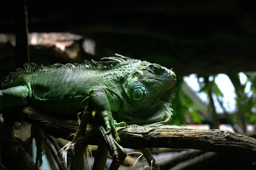
[[[111,114],[111,108],[118,109],[119,105],[118,99],[112,96],[108,91],[105,91],[104,88],[94,86],[91,88],[89,93],[90,99],[92,100],[92,104],[97,113],[100,113],[100,116],[105,122],[106,125],[106,134],[112,131],[113,137],[116,142],[120,142],[120,138],[118,136],[116,127],[126,126],[125,122],[116,123],[113,120]],[[109,101],[111,100],[111,101]],[[110,102],[113,104],[110,105]]]

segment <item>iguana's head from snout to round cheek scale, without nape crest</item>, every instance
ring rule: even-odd
[[[172,70],[146,61],[138,62],[125,82],[126,94],[136,105],[151,105],[167,100],[174,90],[176,76]]]

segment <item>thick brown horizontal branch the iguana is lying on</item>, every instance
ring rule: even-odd
[[[58,120],[45,116],[31,107],[23,108],[23,116],[29,123],[36,123],[49,135],[68,139],[76,132],[78,122]],[[88,130],[93,129],[88,125]],[[228,153],[253,159],[256,156],[256,139],[228,130],[190,129],[177,126],[141,127],[129,125],[119,128],[121,146],[138,149],[140,147],[166,147],[176,149],[196,149],[216,153]],[[98,140],[88,143],[97,145]]]

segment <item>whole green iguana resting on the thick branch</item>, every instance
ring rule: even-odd
[[[158,64],[116,56],[102,58],[106,62],[18,68],[2,84],[0,110],[31,105],[47,113],[70,115],[83,111],[90,101],[117,142],[117,126],[167,124],[175,73]]]

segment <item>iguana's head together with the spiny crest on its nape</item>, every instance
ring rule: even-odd
[[[117,57],[105,57],[110,61],[100,64],[110,64],[110,71],[118,74],[118,81],[128,100],[128,105],[137,106],[142,110],[160,101],[169,99],[175,91],[176,76],[172,70],[147,61],[130,59],[115,54]],[[112,73],[108,73],[112,75]]]

